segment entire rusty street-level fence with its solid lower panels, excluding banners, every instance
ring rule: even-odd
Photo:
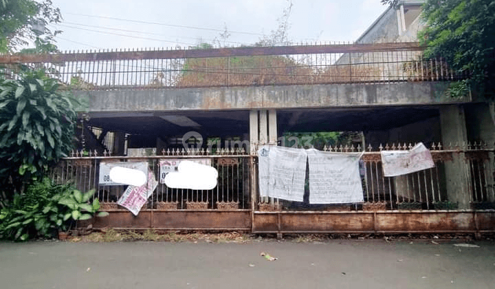
[[[494,149],[483,145],[430,147],[434,167],[386,176],[383,151],[412,149],[410,144],[372,149],[359,158],[360,202],[313,204],[311,172],[303,173],[302,202],[261,192],[259,156],[243,151],[170,152],[162,156],[72,156],[54,170],[56,182],[96,189],[110,215],[94,228],[251,231],[253,233],[487,233],[495,231]],[[340,147],[327,151],[357,152]],[[174,189],[164,183],[185,160],[217,170],[213,189]],[[111,184],[108,167],[140,164],[148,173],[148,195],[137,215],[120,206],[129,186]],[[311,165],[311,164],[310,164]],[[305,176],[304,176],[305,175]],[[187,180],[199,178],[188,175]],[[152,184],[152,185],[150,185]],[[155,185],[155,186],[154,186]],[[355,192],[350,192],[355,193]],[[129,196],[128,196],[129,197]],[[118,204],[119,203],[119,204]]]

